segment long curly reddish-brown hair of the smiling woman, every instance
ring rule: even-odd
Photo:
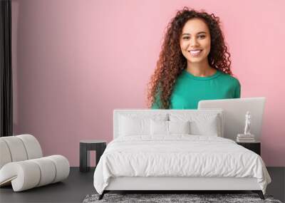
[[[177,11],[176,16],[167,25],[164,41],[157,61],[155,73],[151,76],[147,90],[147,107],[155,103],[157,95],[160,97],[160,108],[170,108],[170,96],[177,76],[187,68],[187,59],[180,49],[182,28],[190,19],[204,20],[209,28],[211,48],[208,55],[209,66],[232,75],[231,60],[228,48],[224,42],[224,35],[220,28],[219,17],[207,14],[205,11],[195,11],[184,7]]]

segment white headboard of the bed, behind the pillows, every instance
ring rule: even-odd
[[[217,114],[221,119],[220,129],[222,131],[222,137],[224,136],[224,113],[222,109],[209,109],[209,110],[166,110],[166,109],[115,109],[113,110],[113,139],[119,136],[119,116],[120,115],[145,115],[145,114],[160,114],[168,115],[169,113],[189,113],[189,114]],[[168,118],[168,116],[167,116]]]

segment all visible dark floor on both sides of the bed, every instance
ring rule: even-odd
[[[285,167],[267,168],[272,182],[266,189],[275,199],[285,199]],[[71,167],[71,173],[63,182],[29,189],[24,192],[13,192],[11,187],[0,188],[0,202],[83,202],[87,194],[95,193],[93,172],[79,172],[78,167]],[[242,192],[241,192],[242,193]]]

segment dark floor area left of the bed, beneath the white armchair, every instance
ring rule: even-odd
[[[12,187],[0,188],[0,202],[83,202],[87,194],[95,193],[93,173],[79,172],[79,167],[71,167],[68,179],[43,187],[13,192]]]

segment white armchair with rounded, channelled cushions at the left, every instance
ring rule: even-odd
[[[14,192],[59,182],[69,175],[66,157],[42,157],[32,135],[0,137],[0,186],[12,184]]]

